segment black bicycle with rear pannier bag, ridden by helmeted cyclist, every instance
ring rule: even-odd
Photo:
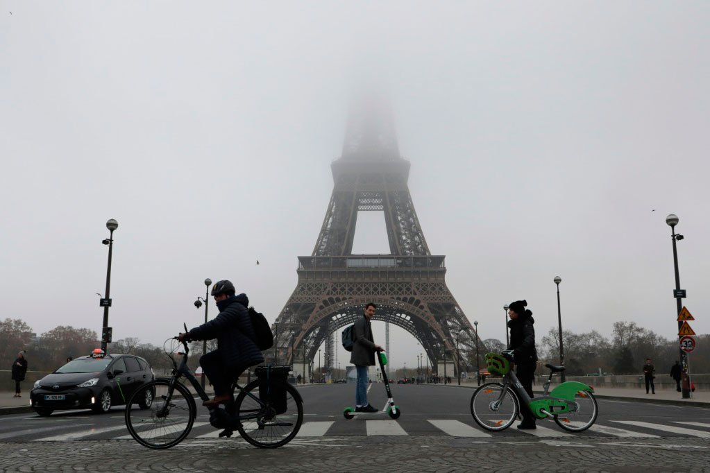
[[[178,351],[180,344],[182,351]],[[187,343],[175,337],[166,340],[163,347],[173,362],[173,375],[141,386],[126,407],[126,426],[133,438],[155,449],[178,445],[195,423],[195,394],[180,382],[180,377],[190,381],[200,399],[209,400],[187,367]],[[175,355],[182,357],[179,365]],[[244,440],[261,448],[281,447],[293,440],[303,423],[303,400],[287,380],[289,370],[288,366],[260,366],[253,382],[244,387],[234,382],[232,401],[224,408],[209,408],[209,423],[224,429],[219,437],[231,437],[238,430]],[[236,399],[235,390],[239,391]]]

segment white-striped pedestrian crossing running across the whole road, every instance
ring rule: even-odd
[[[608,425],[613,424],[613,425]],[[245,423],[245,428],[257,428]],[[146,425],[146,435],[150,435],[151,426]],[[219,438],[221,430],[215,429],[208,422],[195,422],[188,438]],[[692,437],[709,439],[710,423],[694,421],[669,421],[652,423],[645,421],[607,420],[604,424],[596,423],[582,433],[569,433],[551,422],[538,422],[535,430],[518,430],[515,425],[501,432],[488,432],[473,422],[454,419],[375,419],[364,421],[307,421],[301,425],[296,438],[321,438],[343,436],[405,436],[405,435],[447,435],[456,438],[495,439],[508,438],[667,438]],[[0,431],[0,441],[66,442],[72,440],[133,440],[126,425],[92,427],[91,424],[67,425],[57,423],[51,427],[23,430]]]

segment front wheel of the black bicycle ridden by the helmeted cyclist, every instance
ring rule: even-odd
[[[153,394],[153,401],[149,408],[141,408],[146,391]],[[169,379],[158,379],[133,393],[126,405],[126,427],[145,447],[170,448],[187,437],[196,415],[195,399],[185,386],[175,382],[170,387]]]

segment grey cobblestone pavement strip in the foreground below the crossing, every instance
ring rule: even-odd
[[[0,444],[2,472],[710,472],[710,441],[599,438],[319,438],[261,450],[241,440],[185,440],[149,450],[131,440]]]

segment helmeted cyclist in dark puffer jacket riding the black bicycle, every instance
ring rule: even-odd
[[[249,299],[246,294],[236,294],[234,284],[218,281],[212,286],[212,296],[219,314],[212,321],[180,333],[182,340],[212,340],[217,338],[217,350],[200,357],[200,366],[214,387],[214,399],[204,401],[212,407],[231,401],[231,383],[245,369],[263,363],[264,357],[253,340],[256,338],[249,318]]]

